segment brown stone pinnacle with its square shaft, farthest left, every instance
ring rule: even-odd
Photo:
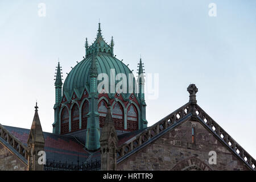
[[[43,171],[43,161],[41,161],[39,158],[42,154],[45,154],[44,143],[43,130],[38,115],[38,103],[36,103],[35,115],[27,140],[28,171]]]

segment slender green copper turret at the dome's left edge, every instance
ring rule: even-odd
[[[59,134],[59,105],[61,102],[61,98],[62,98],[62,75],[61,75],[61,67],[60,67],[60,62],[58,62],[58,66],[56,67],[56,78],[55,80],[55,105],[53,107],[54,109],[54,123],[52,124],[53,126],[53,133]]]

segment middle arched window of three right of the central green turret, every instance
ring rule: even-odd
[[[124,122],[123,122],[123,109],[121,104],[115,102],[112,109],[112,118],[115,123],[115,129],[123,130]]]

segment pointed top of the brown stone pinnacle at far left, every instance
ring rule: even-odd
[[[38,102],[36,102],[35,115],[34,115],[32,126],[30,129],[28,142],[30,140],[31,140],[31,142],[44,143],[43,130],[42,130],[42,126],[41,126],[39,115],[38,115]]]

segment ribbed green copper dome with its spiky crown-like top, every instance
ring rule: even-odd
[[[84,92],[84,89],[87,88],[88,92],[90,90],[90,69],[91,64],[96,63],[97,72],[96,74],[100,73],[106,73],[109,77],[109,90],[110,93],[110,80],[115,80],[113,77],[113,74],[110,74],[111,69],[115,70],[115,75],[117,76],[118,73],[123,73],[126,75],[126,83],[127,83],[127,89],[126,93],[129,92],[129,74],[133,74],[130,69],[127,67],[127,65],[123,64],[122,61],[116,59],[113,56],[113,47],[114,47],[114,41],[113,37],[111,40],[110,45],[107,44],[102,38],[101,35],[101,27],[100,23],[98,24],[98,33],[97,38],[94,41],[94,43],[91,46],[88,46],[87,38],[85,42],[85,59],[82,60],[80,63],[78,63],[75,68],[69,72],[67,78],[65,79],[64,86],[63,86],[63,93],[65,96],[67,96],[68,100],[72,97],[72,94],[75,92],[77,95],[81,95]],[[92,61],[92,59],[95,59]],[[95,69],[95,65],[93,65]],[[97,75],[96,75],[97,76]],[[115,80],[115,85],[119,80]],[[99,81],[101,82],[101,80]],[[125,83],[124,81],[122,81]],[[135,84],[133,84],[133,88],[135,88]],[[109,96],[113,96],[115,93],[109,94]],[[129,96],[129,94],[123,94],[125,97]],[[77,96],[80,97],[80,96]]]

